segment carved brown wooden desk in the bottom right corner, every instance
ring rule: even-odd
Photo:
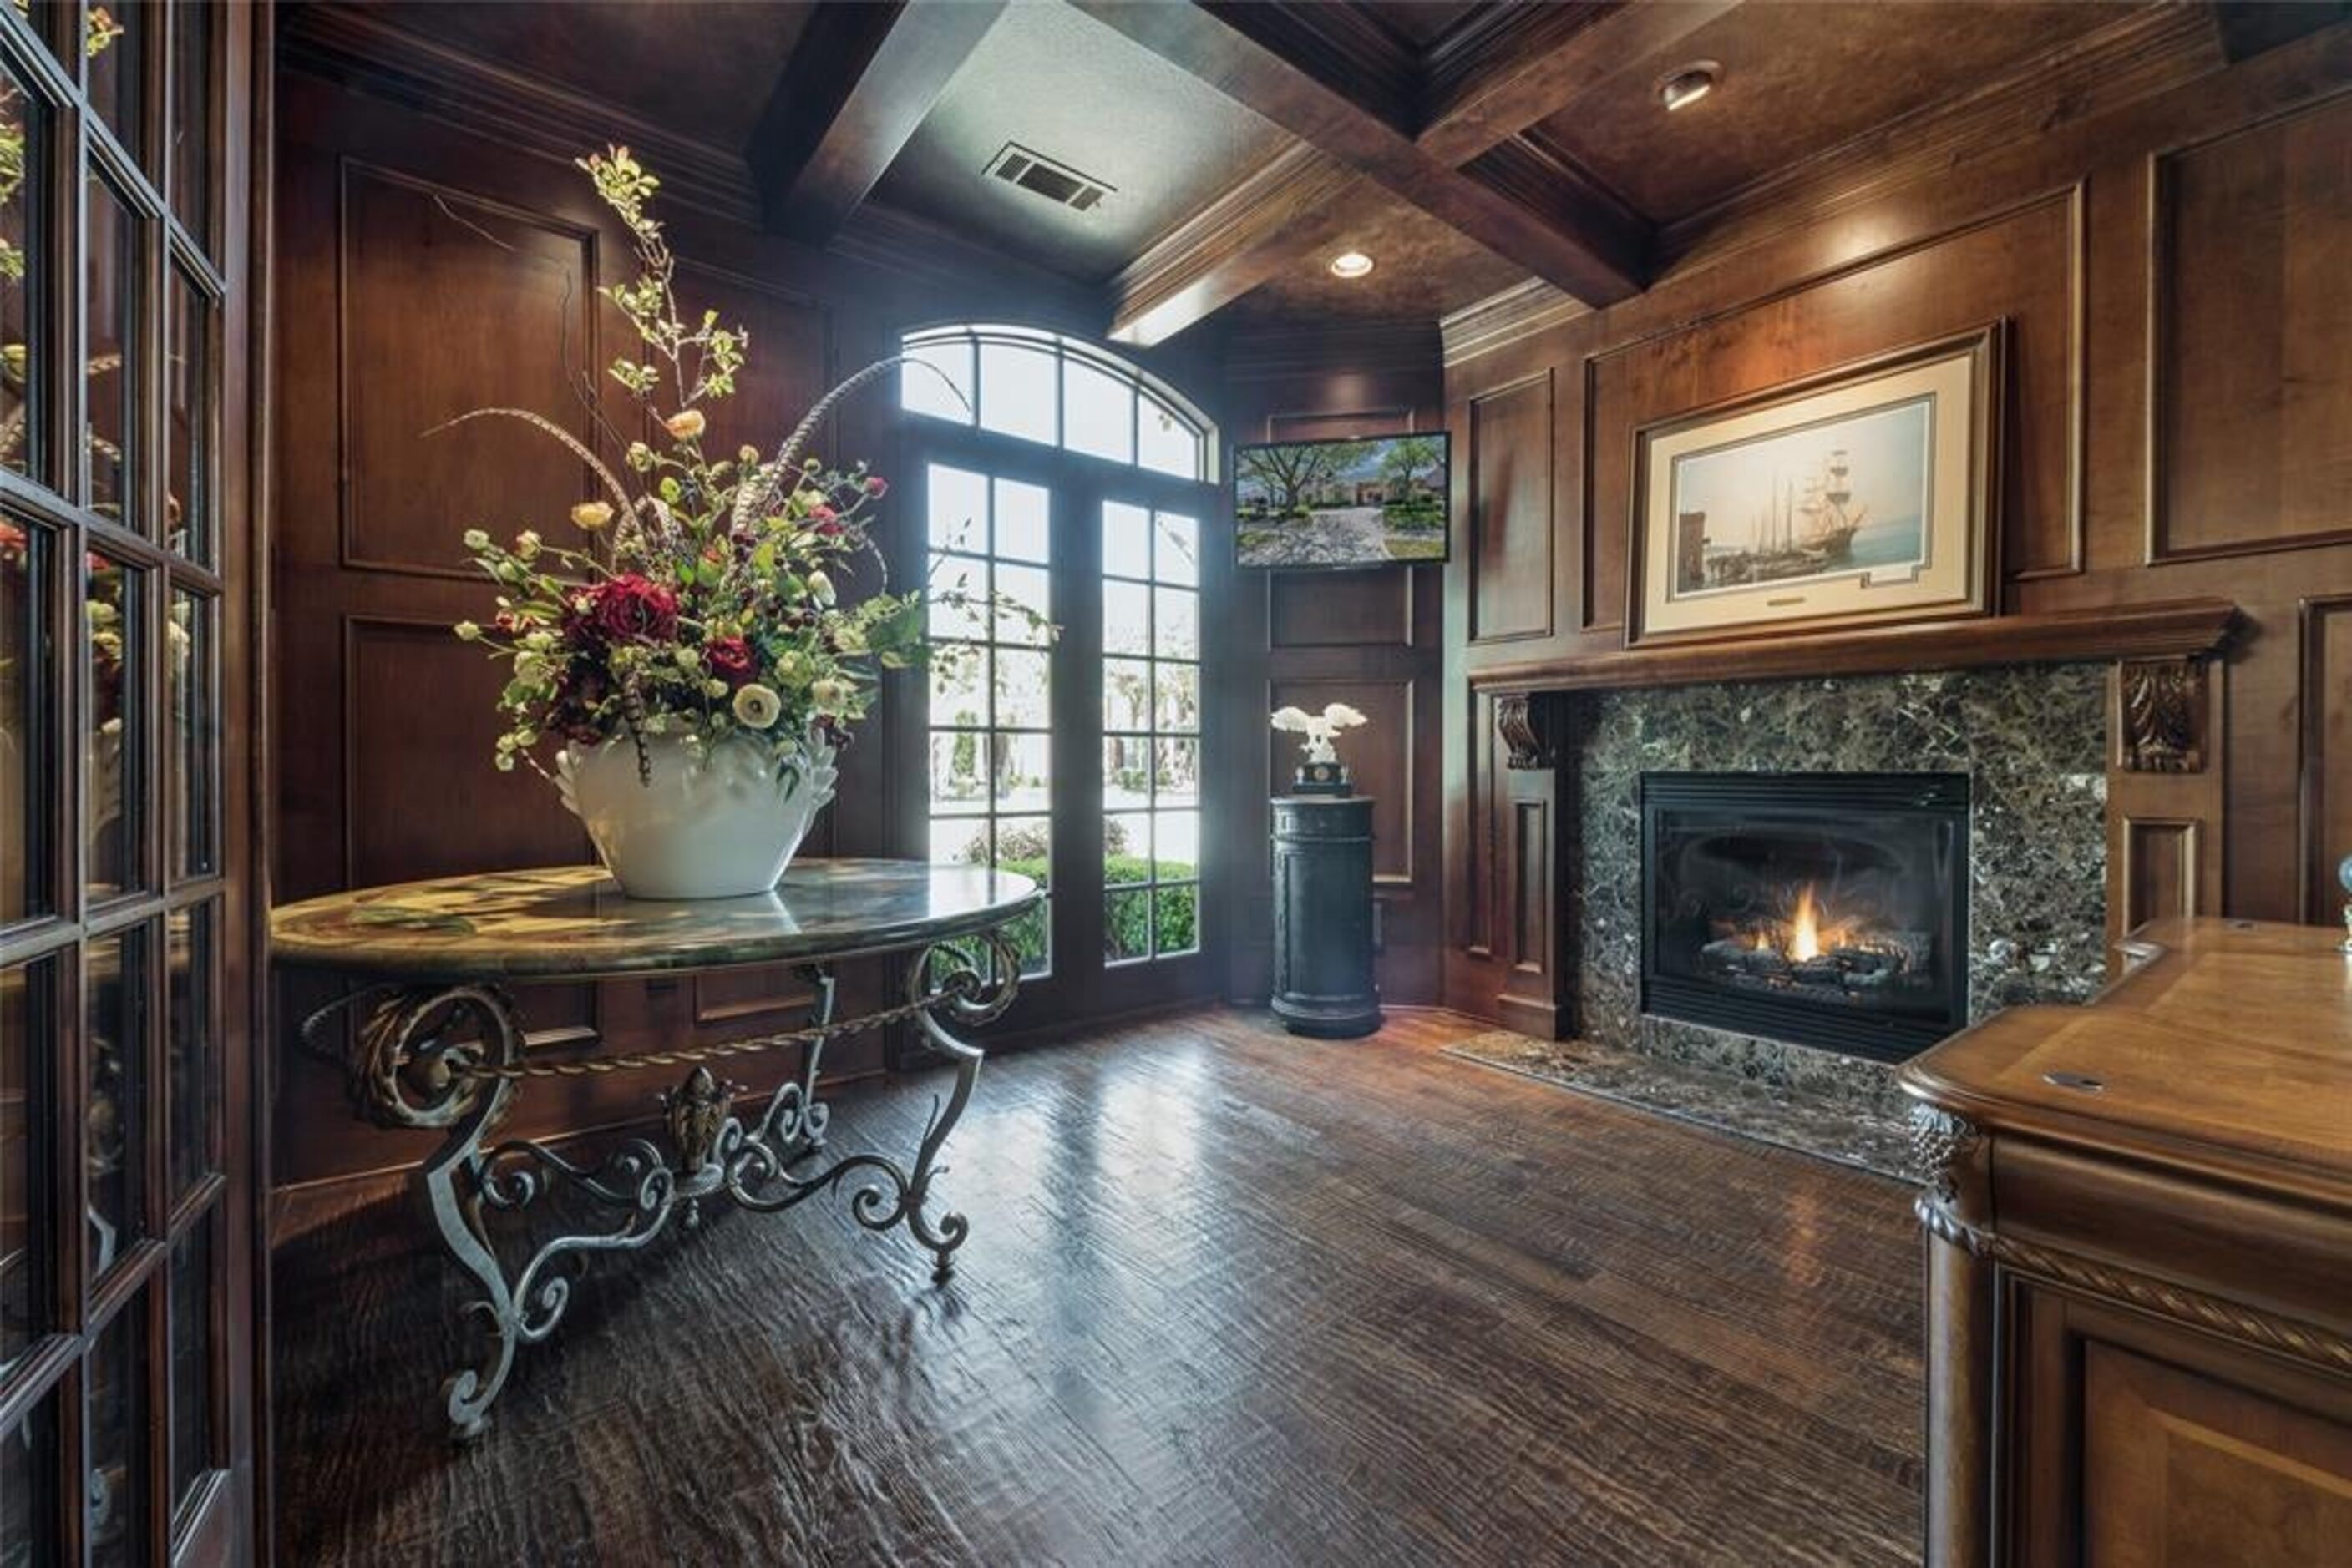
[[[2157,922],[1903,1088],[1931,1563],[2352,1561],[2352,957]]]

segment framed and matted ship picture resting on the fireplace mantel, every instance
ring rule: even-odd
[[[1994,322],[1642,425],[1625,639],[1992,614],[2002,336]]]

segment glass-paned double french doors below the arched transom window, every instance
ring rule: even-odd
[[[1056,383],[1033,386],[1049,400]],[[988,430],[981,409],[967,428],[917,421],[910,440],[943,654],[922,712],[927,849],[1049,889],[1016,933],[1014,1027],[1211,994],[1200,552],[1214,491]],[[1011,609],[974,611],[955,590]]]

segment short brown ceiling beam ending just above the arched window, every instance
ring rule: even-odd
[[[1110,341],[1150,348],[1338,242],[1362,174],[1303,141],[1160,235],[1110,280]]]

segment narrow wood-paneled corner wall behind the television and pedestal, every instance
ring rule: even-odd
[[[1432,430],[1444,423],[1432,331],[1251,336],[1225,362],[1230,442]],[[1230,569],[1230,552],[1228,564]],[[1211,719],[1228,757],[1261,773],[1211,780],[1214,820],[1232,856],[1230,997],[1272,985],[1272,867],[1265,802],[1287,795],[1294,736],[1265,715],[1284,703],[1350,703],[1371,719],[1341,741],[1355,788],[1374,797],[1374,898],[1383,1001],[1435,1004],[1444,945],[1439,858],[1439,595],[1437,567],[1371,571],[1235,571]]]

